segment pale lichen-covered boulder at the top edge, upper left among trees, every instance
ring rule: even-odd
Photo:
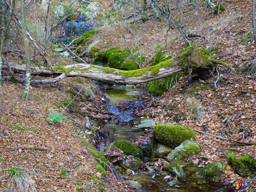
[[[42,0],[41,7],[45,9],[45,11],[47,11],[48,4],[49,4],[48,0]],[[67,4],[67,3],[62,3],[58,0],[53,0],[49,4],[49,13],[51,13],[55,17],[61,18],[64,15],[74,13],[75,11],[73,9],[74,6],[71,6],[71,5],[74,5],[73,2],[70,2],[70,4]]]

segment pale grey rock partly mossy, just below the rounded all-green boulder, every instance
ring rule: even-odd
[[[167,160],[169,162],[179,162],[185,164],[189,157],[192,155],[197,155],[200,152],[201,148],[197,142],[185,140],[167,155]]]

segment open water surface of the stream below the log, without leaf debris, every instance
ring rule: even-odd
[[[100,125],[104,130],[109,132],[108,143],[112,143],[116,140],[134,140],[144,134],[145,130],[134,132],[132,131],[136,126],[130,124],[136,117],[132,115],[134,107],[141,105],[145,98],[147,99],[150,95],[146,94],[141,89],[125,89],[119,88],[105,88],[102,89],[104,94],[109,98],[107,102],[107,109],[109,112],[115,114],[115,120],[107,122],[105,125]],[[134,92],[137,91],[137,92]],[[126,107],[127,110],[123,109],[122,106],[131,105]],[[150,162],[157,162],[160,158],[164,159],[167,154],[156,155],[153,152],[153,157],[148,158]],[[151,172],[127,172],[126,170],[120,171],[122,175],[128,177],[131,180],[138,181],[141,183],[142,188],[135,189],[135,192],[213,192],[221,190],[223,192],[232,192],[234,189],[227,188],[229,185],[223,183],[212,182],[204,179],[204,177],[198,176],[196,173],[200,168],[195,166],[184,166],[183,170],[186,174],[185,179],[165,179],[163,175],[154,174]],[[226,189],[224,189],[226,188]],[[224,190],[223,190],[224,189]]]

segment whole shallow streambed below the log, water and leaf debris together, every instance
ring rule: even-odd
[[[139,87],[139,86],[138,86]],[[107,109],[112,113],[115,118],[111,121],[105,121],[104,124],[98,124],[104,131],[108,132],[108,137],[104,139],[102,144],[98,146],[98,150],[106,153],[106,146],[109,144],[126,140],[139,143],[139,140],[149,138],[152,143],[152,153],[147,157],[141,157],[142,164],[139,168],[131,170],[130,168],[124,169],[117,162],[114,163],[115,168],[119,172],[132,181],[131,186],[137,185],[134,188],[136,192],[162,192],[162,191],[175,191],[175,192],[208,192],[220,190],[228,187],[220,182],[213,182],[210,179],[205,179],[199,176],[197,172],[200,168],[193,165],[182,166],[184,170],[184,177],[178,178],[176,175],[163,171],[164,166],[168,165],[166,156],[172,150],[156,142],[153,138],[152,128],[138,128],[138,124],[147,118],[142,114],[143,110],[152,104],[154,98],[145,92],[144,89],[127,88],[122,85],[115,87],[106,87],[101,89],[105,96]],[[104,100],[104,99],[103,99]],[[104,100],[105,102],[105,100]],[[136,140],[137,139],[137,140]],[[137,142],[136,142],[137,141]],[[139,187],[140,186],[140,187]],[[225,192],[234,191],[232,188],[226,188]]]

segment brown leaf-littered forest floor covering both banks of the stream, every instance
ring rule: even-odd
[[[111,9],[111,1],[101,3],[101,13],[105,8]],[[168,92],[156,98],[155,103],[160,106],[148,108],[144,113],[149,113],[150,118],[157,124],[179,124],[199,131],[210,131],[211,134],[224,138],[256,143],[256,81],[236,76],[255,76],[255,69],[253,71],[250,68],[255,66],[256,56],[251,36],[250,3],[249,0],[239,0],[236,3],[226,1],[226,10],[218,16],[202,2],[195,7],[195,11],[187,11],[184,14],[186,27],[193,33],[207,37],[191,39],[191,44],[216,51],[214,56],[222,55],[220,59],[235,68],[236,72],[221,67],[217,89],[213,84],[218,78],[217,74],[207,83],[199,79],[180,79]],[[128,11],[132,13],[132,9]],[[129,12],[126,12],[127,15]],[[140,25],[140,30],[135,28],[135,45],[142,45],[143,54],[146,56],[142,65],[144,67],[154,58],[154,53],[165,46],[167,27],[162,20],[149,20],[141,22]],[[133,31],[132,24],[128,26]],[[126,48],[119,25],[109,25],[106,22],[100,29],[100,33],[92,38],[100,39],[98,46],[101,50],[112,46]],[[121,30],[126,30],[122,24]],[[125,34],[130,46],[133,33],[125,31]],[[167,41],[170,42],[168,48],[174,58],[186,47],[176,35],[169,35]],[[73,62],[52,52],[50,48],[47,52],[52,61],[58,64]],[[15,60],[12,57],[9,59]],[[0,87],[0,191],[17,187],[14,181],[9,179],[12,168],[20,168],[27,174],[28,180],[32,178],[31,182],[35,183],[36,191],[99,191],[98,187],[108,191],[132,191],[125,182],[118,180],[119,178],[116,182],[111,171],[108,171],[108,178],[101,177],[103,180],[91,177],[102,175],[96,170],[95,159],[88,155],[86,150],[88,140],[93,143],[96,138],[84,137],[86,135],[81,132],[82,128],[77,128],[79,124],[86,124],[85,118],[74,113],[72,115],[76,118],[75,123],[66,118],[63,122],[53,124],[46,120],[50,113],[68,112],[63,100],[74,98],[67,93],[72,87],[77,87],[76,96],[88,97],[87,106],[96,105],[104,111],[104,103],[101,96],[97,95],[100,93],[95,89],[95,85],[82,78],[65,79],[53,85],[32,85],[30,101],[20,98],[24,89],[20,84],[4,82]],[[89,89],[96,94],[86,94]],[[189,110],[194,104],[200,106],[200,113],[197,115]],[[83,111],[90,111],[87,106],[80,107]],[[180,117],[174,121],[171,117],[176,114]],[[107,114],[98,111],[93,115],[108,118]],[[187,117],[184,118],[185,116]],[[226,159],[226,150],[234,146],[231,142],[197,132],[196,134],[196,142],[202,146],[202,152],[193,157],[196,166],[202,166],[198,163],[201,156],[208,158],[203,161],[204,165],[215,161],[226,163],[228,166],[221,181],[230,184],[250,182],[247,188],[237,188],[237,191],[256,189],[256,180],[240,177]],[[235,148],[239,151],[237,158],[249,154],[256,159],[255,145],[241,145]],[[75,166],[78,161],[80,166]]]

